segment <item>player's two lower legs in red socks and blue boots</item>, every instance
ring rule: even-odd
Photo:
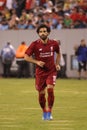
[[[46,97],[45,97],[46,92],[45,91],[46,91],[45,89],[39,91],[39,104],[40,104],[42,111],[43,111],[42,119],[43,120],[52,120],[53,117],[52,117],[51,113],[52,113],[52,107],[54,104],[54,86],[50,85],[50,84],[47,85],[48,109],[46,109]]]

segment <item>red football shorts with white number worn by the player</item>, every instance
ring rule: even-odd
[[[56,76],[57,74],[54,72],[54,73],[51,73],[51,74],[47,74],[47,75],[36,75],[36,89],[38,91],[41,91],[41,90],[44,90],[45,87],[50,84],[50,85],[53,85],[55,86],[55,83],[56,83]]]

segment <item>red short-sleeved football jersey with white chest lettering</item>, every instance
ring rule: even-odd
[[[39,39],[31,43],[25,53],[29,56],[34,54],[36,60],[45,62],[43,68],[36,66],[36,75],[47,75],[56,72],[54,62],[55,52],[60,52],[57,41],[49,39],[47,44],[43,44]]]

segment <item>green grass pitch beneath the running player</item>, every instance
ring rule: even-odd
[[[52,121],[42,120],[34,80],[0,78],[0,130],[87,130],[87,80],[57,79]]]

